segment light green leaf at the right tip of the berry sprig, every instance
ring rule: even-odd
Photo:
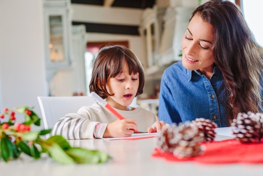
[[[100,163],[106,162],[109,155],[97,150],[87,150],[84,148],[71,148],[66,151],[77,163]]]

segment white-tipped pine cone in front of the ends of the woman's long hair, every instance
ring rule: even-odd
[[[231,126],[235,127],[233,134],[236,136],[236,140],[242,143],[260,142],[261,123],[254,113],[239,113]]]

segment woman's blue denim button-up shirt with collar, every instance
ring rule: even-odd
[[[218,127],[227,127],[223,77],[214,67],[210,80],[196,70],[190,71],[179,61],[167,68],[161,80],[159,120],[166,123],[205,118]]]

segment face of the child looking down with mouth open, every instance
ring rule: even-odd
[[[129,75],[128,65],[125,63],[123,72],[111,77],[106,85],[106,89],[113,96],[108,96],[106,101],[114,108],[127,110],[134,99],[139,87],[139,73]]]

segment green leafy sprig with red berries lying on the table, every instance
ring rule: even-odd
[[[17,123],[16,112],[24,114],[25,121]],[[8,121],[2,122],[8,118]],[[97,150],[71,147],[62,136],[52,136],[47,140],[40,136],[49,134],[49,130],[32,131],[31,125],[40,126],[41,119],[32,108],[21,106],[9,110],[4,108],[0,114],[0,159],[8,162],[25,154],[38,159],[41,153],[48,153],[50,157],[62,164],[73,163],[103,163],[108,161],[109,155]]]

